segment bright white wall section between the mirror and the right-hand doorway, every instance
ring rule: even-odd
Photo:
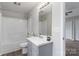
[[[63,2],[52,3],[52,39],[53,55],[65,55],[65,44],[63,40],[64,22],[65,22],[65,5]]]

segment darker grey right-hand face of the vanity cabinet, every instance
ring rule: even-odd
[[[43,45],[39,47],[39,56],[52,56],[52,43]]]

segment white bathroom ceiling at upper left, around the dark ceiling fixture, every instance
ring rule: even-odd
[[[39,4],[39,2],[20,2],[21,5],[19,6],[14,4],[13,2],[0,2],[0,3],[2,10],[14,11],[20,13],[27,13]]]

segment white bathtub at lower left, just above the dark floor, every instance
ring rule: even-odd
[[[0,48],[1,48],[0,55],[21,49],[20,42],[1,44]]]

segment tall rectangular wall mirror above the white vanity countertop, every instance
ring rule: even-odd
[[[50,36],[52,31],[52,5],[49,3],[39,12],[39,33]]]

